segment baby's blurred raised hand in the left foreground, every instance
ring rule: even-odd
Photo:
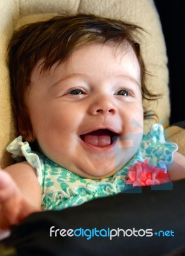
[[[0,229],[19,223],[35,211],[40,209],[29,204],[10,175],[0,170]]]

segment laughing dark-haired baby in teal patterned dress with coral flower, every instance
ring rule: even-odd
[[[134,181],[185,177],[185,157],[166,143],[163,127],[143,132],[142,100],[159,95],[145,86],[137,31],[80,14],[15,32],[8,56],[21,136],[8,146],[19,162],[0,172],[1,228],[34,211],[124,192]],[[134,173],[142,166],[161,176],[144,184]]]

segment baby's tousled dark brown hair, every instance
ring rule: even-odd
[[[142,97],[152,100],[145,86],[145,67],[140,54],[136,32],[143,31],[134,24],[120,20],[106,19],[94,15],[57,16],[50,20],[27,24],[15,31],[8,45],[8,65],[11,77],[11,96],[15,115],[21,120],[24,129],[32,132],[29,109],[26,104],[27,86],[36,63],[43,59],[42,72],[67,60],[75,49],[83,45],[99,42],[128,44],[137,55],[141,72]],[[144,117],[147,112],[144,112]]]

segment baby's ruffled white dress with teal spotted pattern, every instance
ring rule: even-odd
[[[26,161],[36,170],[42,193],[42,207],[45,210],[61,210],[66,207],[83,204],[94,198],[124,193],[130,188],[125,182],[129,167],[137,161],[159,168],[173,163],[173,154],[177,151],[175,143],[164,138],[163,126],[155,124],[151,132],[143,135],[143,140],[133,158],[112,177],[106,179],[85,179],[53,163],[40,152],[34,152],[22,136],[13,140],[7,147],[8,152],[17,161]]]

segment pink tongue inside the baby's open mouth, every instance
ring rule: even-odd
[[[83,134],[82,140],[96,147],[106,147],[111,144],[110,132],[108,130],[97,130]]]

